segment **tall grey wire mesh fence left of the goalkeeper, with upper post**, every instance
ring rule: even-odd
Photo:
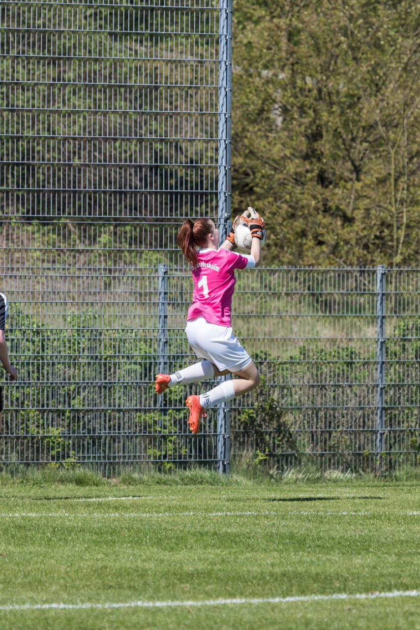
[[[0,6],[3,462],[213,462],[150,382],[159,263],[228,197],[231,4]]]

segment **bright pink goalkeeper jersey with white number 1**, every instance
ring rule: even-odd
[[[198,251],[198,265],[191,268],[195,288],[187,320],[203,317],[210,324],[232,326],[235,270],[251,266],[250,258],[224,248]]]

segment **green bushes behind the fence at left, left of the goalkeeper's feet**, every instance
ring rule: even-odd
[[[13,413],[4,414],[4,425],[7,432],[13,423],[11,433],[21,437],[14,438],[8,461],[74,466],[127,456],[120,436],[133,427],[142,433],[149,417],[139,413],[127,423],[123,405],[116,409],[115,403],[138,405],[132,396],[138,401],[150,387],[153,341],[133,329],[103,328],[92,309],[69,312],[67,328],[60,329],[43,326],[18,306],[13,318],[10,350],[20,381],[8,387]]]

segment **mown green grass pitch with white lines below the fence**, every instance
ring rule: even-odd
[[[420,628],[418,482],[129,481],[0,477],[2,630]]]

